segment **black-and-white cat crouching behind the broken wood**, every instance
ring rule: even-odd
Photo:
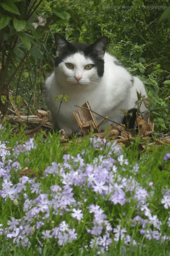
[[[91,109],[102,116],[108,116],[121,123],[123,114],[135,107],[137,93],[146,96],[143,83],[132,76],[119,61],[105,53],[107,37],[99,38],[93,44],[69,43],[61,34],[54,35],[56,58],[54,72],[46,80],[45,102],[51,111],[53,127],[66,132],[79,132],[72,111],[74,105],[81,106],[88,101]],[[67,102],[54,101],[58,95],[69,96]],[[142,103],[140,111],[146,111]],[[58,115],[57,115],[58,113]],[[96,115],[98,124],[103,119]],[[111,122],[105,120],[100,129],[105,130]]]

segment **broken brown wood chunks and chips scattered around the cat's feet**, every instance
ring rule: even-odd
[[[102,122],[97,124],[94,111],[91,110],[89,103],[86,101],[82,106],[77,106],[78,110],[72,112],[73,116],[77,120],[78,126],[83,136],[89,134],[89,132],[94,131],[93,136],[99,138],[109,138],[111,140],[117,140],[118,143],[129,144],[133,142],[137,133],[135,130],[127,130],[127,128],[119,124],[115,126],[112,124],[109,126],[108,132],[101,132],[100,125],[104,122],[107,117],[103,117]],[[44,110],[36,110],[34,115],[20,115],[17,107],[15,104],[13,105],[13,109],[15,111],[15,115],[6,115],[5,117],[0,117],[0,123],[4,121],[4,119],[8,120],[11,124],[26,124],[27,129],[25,134],[34,134],[40,131],[41,128],[44,130],[50,131],[52,130],[52,123],[51,123],[51,114]],[[97,114],[97,113],[96,113]],[[138,125],[138,134],[140,134],[140,138],[143,142],[151,141],[150,134],[154,133],[154,124],[150,123],[150,112],[147,111],[144,113],[144,118],[141,115],[138,115],[137,118],[137,125]],[[61,141],[65,143],[69,138],[70,134],[66,133],[65,131],[61,130]],[[81,138],[80,138],[81,140]],[[159,139],[155,139],[154,144],[162,145],[162,143],[166,142],[170,144],[170,137],[160,137]],[[150,144],[153,144],[152,142]],[[141,149],[145,149],[145,146],[141,146]]]

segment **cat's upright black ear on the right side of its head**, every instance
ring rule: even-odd
[[[95,41],[93,44],[91,44],[93,52],[97,54],[99,59],[104,59],[104,53],[106,50],[107,42],[108,42],[107,37],[101,37],[97,41]]]

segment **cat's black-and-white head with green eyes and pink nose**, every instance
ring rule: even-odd
[[[55,72],[62,84],[97,85],[104,73],[107,37],[92,44],[69,43],[61,34],[54,35],[56,45]]]

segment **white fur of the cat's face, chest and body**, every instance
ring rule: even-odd
[[[108,116],[116,123],[121,123],[123,114],[120,109],[128,111],[135,107],[137,93],[146,95],[142,82],[134,78],[132,86],[132,76],[121,66],[115,65],[113,56],[105,53],[104,55],[104,74],[99,77],[97,69],[93,67],[86,70],[87,64],[93,64],[91,59],[87,59],[81,53],[76,53],[66,58],[54,69],[54,72],[46,80],[45,102],[52,113],[53,122],[57,115],[61,100],[54,101],[58,95],[65,94],[69,96],[68,101],[63,100],[60,111],[56,118],[59,129],[66,132],[78,132],[79,128],[72,112],[88,101],[91,109],[100,115]],[[74,69],[68,69],[66,63],[74,65]],[[77,82],[75,77],[81,77]],[[142,103],[140,111],[146,108]],[[100,123],[103,118],[96,115],[97,122]],[[105,120],[101,129],[106,129],[111,122]]]

